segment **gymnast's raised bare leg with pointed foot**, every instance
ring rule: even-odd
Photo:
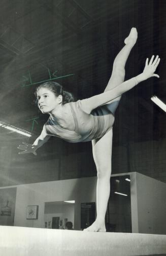
[[[111,78],[108,82],[105,91],[112,90],[113,88],[124,82],[125,64],[132,47],[135,45],[137,41],[137,37],[138,34],[136,28],[132,28],[129,36],[124,40],[125,46],[121,49],[121,51],[118,53],[114,60]],[[120,100],[120,98],[121,96],[111,100],[110,103],[113,101]]]

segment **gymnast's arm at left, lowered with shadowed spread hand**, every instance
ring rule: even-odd
[[[23,150],[19,152],[19,154],[33,153],[36,156],[37,155],[36,150],[39,147],[41,147],[44,143],[46,143],[49,138],[50,138],[50,135],[47,134],[46,127],[44,125],[41,135],[34,141],[33,144],[22,142],[22,145],[19,145],[17,147],[18,149]]]

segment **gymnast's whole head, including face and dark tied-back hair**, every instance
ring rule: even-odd
[[[37,87],[35,96],[38,107],[42,113],[49,113],[59,105],[74,101],[73,94],[63,90],[63,87],[55,82],[46,82]]]

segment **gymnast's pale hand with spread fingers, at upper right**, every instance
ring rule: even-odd
[[[159,78],[159,75],[155,74],[154,72],[160,62],[160,58],[158,58],[158,55],[157,55],[154,61],[153,61],[153,59],[154,59],[154,55],[152,56],[151,60],[149,61],[149,64],[148,64],[148,58],[146,59],[145,68],[142,73],[144,80],[151,78],[152,76],[156,76],[156,78]]]

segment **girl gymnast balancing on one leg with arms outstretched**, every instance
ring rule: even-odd
[[[156,76],[155,70],[160,59],[152,56],[149,64],[146,60],[143,73],[126,82],[124,81],[125,63],[130,50],[137,41],[137,30],[132,28],[125,39],[125,46],[116,56],[110,81],[104,93],[73,102],[70,93],[63,91],[62,86],[47,82],[37,88],[38,106],[42,113],[50,115],[43,126],[41,135],[34,144],[23,143],[21,153],[32,152],[41,147],[50,136],[57,136],[68,142],[92,141],[93,158],[97,169],[96,212],[94,223],[85,231],[105,232],[105,214],[110,195],[112,126],[114,112],[121,95],[138,83]]]

